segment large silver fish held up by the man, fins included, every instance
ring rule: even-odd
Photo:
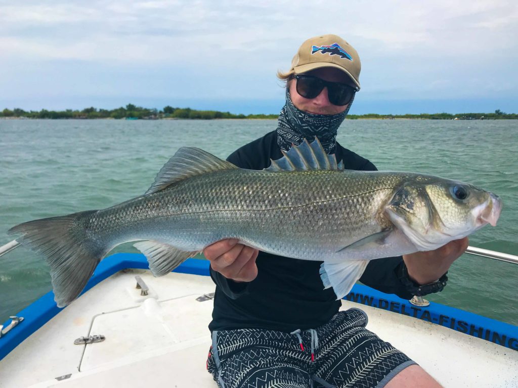
[[[323,285],[341,298],[369,260],[432,250],[495,226],[500,209],[497,196],[469,184],[344,170],[315,140],[293,146],[263,171],[180,148],[141,197],[21,223],[9,233],[46,257],[60,307],[121,243],[140,241],[135,247],[160,276],[231,237],[277,255],[323,261]]]

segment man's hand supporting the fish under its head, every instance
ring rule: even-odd
[[[435,250],[403,255],[408,276],[420,285],[436,281],[464,253],[468,244],[468,237],[464,237],[461,240],[450,241]]]

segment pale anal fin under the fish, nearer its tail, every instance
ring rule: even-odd
[[[184,251],[154,240],[141,241],[133,244],[133,246],[146,256],[149,269],[154,276],[168,274],[185,260],[198,253],[198,251]]]

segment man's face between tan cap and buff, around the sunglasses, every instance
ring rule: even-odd
[[[325,81],[347,83],[355,87],[351,78],[349,78],[346,73],[337,69],[336,67],[321,67],[320,69],[308,71],[305,74],[308,74],[308,76],[321,78]],[[327,97],[327,87],[324,87],[322,92],[315,98],[304,98],[297,93],[295,86],[296,82],[297,80],[295,79],[290,80],[288,87],[290,88],[290,96],[293,104],[301,111],[313,114],[337,114],[343,112],[349,106],[337,106],[330,103],[329,98]]]

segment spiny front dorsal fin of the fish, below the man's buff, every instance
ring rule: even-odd
[[[288,152],[282,151],[282,158],[271,159],[270,167],[266,171],[306,171],[306,170],[343,170],[343,163],[336,162],[336,156],[327,155],[315,138],[311,144],[307,139],[300,145],[292,145]]]

